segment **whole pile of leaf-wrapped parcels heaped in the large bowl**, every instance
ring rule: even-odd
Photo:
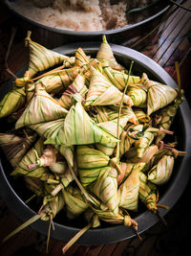
[[[137,229],[131,212],[141,201],[159,213],[158,186],[184,154],[162,141],[173,133],[180,89],[132,75],[105,36],[96,58],[81,48],[74,57],[53,52],[30,32],[25,41],[28,70],[0,103],[0,117],[14,122],[0,134],[11,175],[42,198],[41,220],[63,210],[70,220],[83,215],[87,229],[100,220]]]

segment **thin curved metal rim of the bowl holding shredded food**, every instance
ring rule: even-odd
[[[21,14],[20,12],[15,11],[8,3],[6,3],[6,0],[0,0],[2,1],[14,14],[17,16],[23,18],[24,20],[32,23],[33,25],[40,27],[42,29],[52,31],[54,33],[62,34],[62,35],[79,35],[79,36],[92,36],[92,35],[113,35],[124,31],[129,31],[132,29],[135,29],[141,25],[144,25],[145,23],[152,21],[153,19],[159,17],[161,14],[168,11],[168,9],[172,6],[172,4],[169,2],[169,4],[164,7],[161,11],[157,12],[156,14],[153,14],[152,16],[145,18],[135,24],[125,25],[124,27],[121,27],[119,29],[112,29],[112,30],[106,30],[106,31],[95,31],[95,32],[82,32],[82,31],[72,31],[72,30],[65,30],[65,29],[58,29],[53,28],[47,25],[44,25],[42,23],[39,23],[37,21],[32,20],[31,18],[28,18],[27,16]]]

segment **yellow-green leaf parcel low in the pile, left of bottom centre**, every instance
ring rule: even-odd
[[[67,208],[67,217],[70,220],[85,212],[89,207],[80,190],[76,187],[69,186],[67,189],[63,189],[62,195]]]

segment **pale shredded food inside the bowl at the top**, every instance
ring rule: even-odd
[[[118,29],[128,24],[127,8],[142,7],[151,0],[17,0],[12,9],[49,27],[94,32]]]

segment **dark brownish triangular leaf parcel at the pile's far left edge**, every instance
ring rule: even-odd
[[[25,153],[29,151],[35,139],[36,134],[28,135],[27,132],[24,137],[11,133],[0,133],[0,146],[13,168],[20,162]]]

